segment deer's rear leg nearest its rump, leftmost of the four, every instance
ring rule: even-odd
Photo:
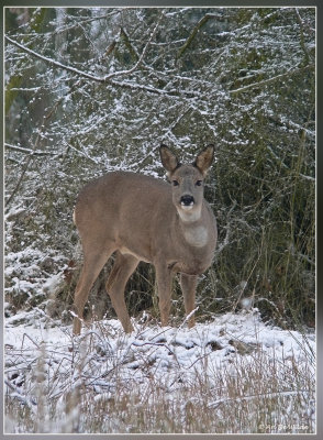
[[[73,322],[74,334],[80,333],[83,309],[88,300],[90,289],[112,252],[113,249],[101,249],[96,250],[94,253],[90,253],[83,249],[85,262],[74,298],[74,309],[77,315]]]

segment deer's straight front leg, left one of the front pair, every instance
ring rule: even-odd
[[[170,298],[171,298],[171,271],[166,264],[157,264],[156,267],[156,278],[157,278],[157,290],[159,298],[159,310],[160,310],[160,321],[162,326],[168,324],[169,312],[170,312]]]

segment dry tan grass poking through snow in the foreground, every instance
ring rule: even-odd
[[[142,343],[140,333],[135,341]],[[315,375],[305,343],[300,358],[300,352],[277,356],[275,348],[270,352],[261,344],[230,341],[225,366],[212,361],[212,350],[221,350],[214,344],[182,369],[176,364],[176,343],[163,334],[159,342],[144,341],[146,352],[134,345],[124,351],[125,342],[122,332],[97,326],[74,341],[69,356],[59,362],[40,346],[23,384],[5,396],[5,432],[315,431]],[[154,356],[160,348],[171,360],[163,375],[163,359]],[[22,350],[15,355],[20,362],[31,359]]]

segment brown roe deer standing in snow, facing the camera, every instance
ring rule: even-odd
[[[140,261],[154,264],[162,326],[170,311],[171,279],[180,273],[186,314],[194,309],[198,275],[212,263],[216,222],[203,198],[203,180],[213,161],[207,146],[192,165],[182,165],[163,145],[160,158],[169,183],[129,172],[113,172],[79,194],[74,220],[82,242],[83,267],[75,293],[74,333],[79,334],[89,290],[115,252],[107,290],[125,332],[133,327],[124,301],[127,279]],[[191,316],[188,326],[194,326]]]

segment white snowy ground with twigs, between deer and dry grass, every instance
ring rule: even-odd
[[[255,369],[255,361],[261,359],[264,371],[268,365],[275,365],[276,382],[281,378],[278,388],[267,386],[265,394],[270,391],[291,397],[301,393],[307,424],[311,421],[311,429],[315,426],[313,394],[310,395],[309,389],[299,389],[303,385],[298,385],[301,381],[299,377],[293,381],[294,373],[291,373],[301,372],[304,375],[302,384],[307,377],[315,376],[314,334],[302,336],[265,326],[257,310],[218,316],[193,329],[188,329],[186,323],[179,328],[137,322],[134,326],[135,331],[126,336],[118,320],[105,320],[83,329],[80,338],[73,338],[71,327],[49,327],[41,310],[7,319],[7,394],[30,407],[36,416],[40,382],[43,381],[47,402],[55,402],[56,413],[64,418],[66,395],[80,386],[98,402],[113,397],[120,384],[127,389],[140,384],[145,389],[152,386],[153,376],[154,383],[160,385],[171,399],[181,384],[194,384],[203,377],[212,391],[208,407],[216,409],[233,399],[224,388],[225,381],[229,383],[237,375],[237,365]],[[216,392],[219,377],[224,381],[221,392]],[[243,389],[236,396],[241,400],[252,397],[244,395]],[[294,428],[287,431],[307,431],[302,424],[298,418]],[[13,425],[16,426],[13,420],[8,424],[9,431],[15,431]],[[51,429],[56,428],[52,426]]]

